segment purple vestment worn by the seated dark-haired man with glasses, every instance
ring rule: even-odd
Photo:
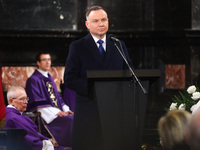
[[[38,70],[26,82],[26,93],[29,97],[27,111],[35,111],[39,108],[56,107],[48,93],[46,83],[51,82],[57,100],[57,108],[62,110],[65,105],[63,99],[57,91],[53,78],[48,74],[48,78],[43,76]],[[63,111],[63,110],[62,110]],[[51,134],[61,146],[71,146],[73,116],[57,117],[51,123],[46,124]]]

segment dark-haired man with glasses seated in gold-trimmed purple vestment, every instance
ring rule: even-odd
[[[48,73],[51,55],[41,52],[36,56],[38,69],[26,82],[26,93],[30,98],[27,111],[39,111],[45,127],[61,146],[71,147],[73,112],[64,103],[56,84]]]

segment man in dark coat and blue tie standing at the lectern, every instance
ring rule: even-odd
[[[93,6],[87,10],[85,25],[90,33],[71,43],[65,64],[65,86],[76,91],[77,94],[72,148],[73,150],[103,150],[97,104],[93,98],[88,97],[90,91],[88,91],[86,72],[123,70],[127,69],[127,65],[111,36],[106,34],[108,16],[102,7]],[[121,44],[130,62],[124,42],[121,41]]]

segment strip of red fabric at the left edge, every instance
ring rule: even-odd
[[[5,110],[5,102],[3,97],[3,90],[1,85],[1,70],[0,70],[0,121],[5,118],[6,110]]]

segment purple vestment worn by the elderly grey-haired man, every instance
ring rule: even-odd
[[[30,150],[42,150],[42,141],[48,140],[47,137],[39,133],[36,124],[29,117],[21,115],[15,108],[6,107],[6,125],[4,129],[26,130],[27,135],[24,138],[24,142]],[[65,148],[58,146],[55,149],[64,150]]]

